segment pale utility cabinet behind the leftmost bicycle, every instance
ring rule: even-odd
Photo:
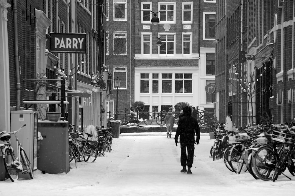
[[[17,138],[22,144],[22,147],[27,153],[30,160],[32,171],[37,170],[37,135],[38,135],[38,113],[32,110],[17,110],[11,111],[11,132],[18,130],[22,125],[26,124],[19,132]],[[14,154],[18,155],[17,141],[14,135],[11,135],[11,145],[14,149]],[[20,158],[20,161],[22,159]],[[21,178],[30,178],[29,174],[19,173]]]

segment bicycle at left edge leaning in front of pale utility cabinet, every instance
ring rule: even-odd
[[[0,140],[3,142],[7,142],[5,144],[0,144],[0,148],[3,156],[5,170],[12,182],[19,179],[19,172],[22,172],[22,174],[29,173],[31,179],[34,179],[30,160],[24,148],[22,147],[22,144],[17,138],[17,132],[19,132],[24,126],[26,126],[26,124],[22,125],[21,128],[13,132],[0,132]],[[14,150],[11,147],[10,143],[10,138],[12,134],[15,136],[15,139],[17,141],[17,157],[15,157]],[[20,162],[20,158],[22,158],[22,163]]]

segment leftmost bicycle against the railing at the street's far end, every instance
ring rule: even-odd
[[[153,122],[152,115],[150,115],[148,112],[145,112],[144,109],[139,108],[137,109],[138,112],[138,118],[137,115],[135,115],[135,112],[132,111],[130,115],[126,116],[124,118],[124,125],[127,125],[128,127],[135,125],[135,123],[139,124],[140,121],[143,121],[146,125],[150,125]]]

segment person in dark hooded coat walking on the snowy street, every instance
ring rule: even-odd
[[[183,116],[180,117],[178,120],[178,127],[174,138],[176,146],[178,143],[178,136],[180,136],[179,142],[181,147],[180,162],[181,166],[183,167],[180,172],[187,172],[188,174],[192,174],[191,167],[194,162],[194,143],[196,145],[199,145],[200,128],[198,121],[191,116],[191,107],[189,106],[185,106],[183,108]],[[188,170],[186,170],[186,165],[188,166]]]

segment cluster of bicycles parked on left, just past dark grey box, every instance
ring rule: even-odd
[[[69,125],[69,162],[70,168],[77,168],[77,162],[93,163],[98,156],[112,152],[112,127],[91,126],[92,132],[76,130]],[[91,134],[92,133],[92,134]]]

